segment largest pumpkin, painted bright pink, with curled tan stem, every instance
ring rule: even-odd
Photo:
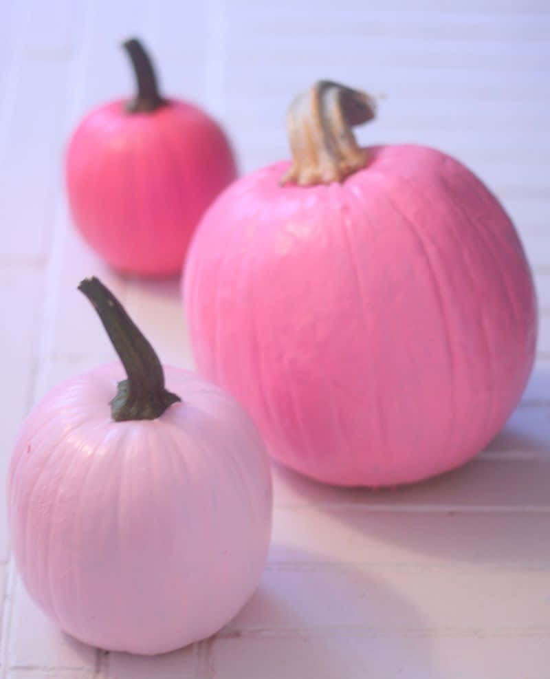
[[[335,83],[298,98],[294,164],[221,194],[184,280],[203,374],[273,457],[350,486],[415,482],[481,451],[536,345],[529,266],[496,198],[439,151],[360,149],[350,125],[373,114]]]

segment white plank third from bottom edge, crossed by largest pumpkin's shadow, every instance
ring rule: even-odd
[[[549,534],[550,514],[277,507],[270,564],[296,570],[338,563],[548,570]]]

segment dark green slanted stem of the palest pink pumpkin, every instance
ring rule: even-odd
[[[164,371],[155,350],[99,279],[81,281],[78,290],[94,305],[126,370],[127,379],[118,382],[118,391],[111,401],[113,420],[159,418],[181,398],[164,389]]]

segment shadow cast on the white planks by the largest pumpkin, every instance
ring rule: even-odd
[[[531,418],[546,418],[550,432],[550,408],[520,407],[474,460],[395,489],[327,486],[273,463],[276,504],[289,513],[313,508],[339,524],[344,553],[352,550],[359,557],[376,554],[394,563],[458,561],[487,568],[548,563],[547,514],[502,510],[548,506],[549,436],[544,430],[529,433],[529,420],[526,431],[522,410],[532,410]],[[315,528],[307,521],[303,525],[296,524],[304,533],[295,539],[311,544],[307,532]],[[331,535],[338,536],[338,530]]]

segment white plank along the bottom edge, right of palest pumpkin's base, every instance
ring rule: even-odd
[[[547,679],[548,643],[544,637],[318,636],[300,631],[216,640],[210,667],[216,679]]]

